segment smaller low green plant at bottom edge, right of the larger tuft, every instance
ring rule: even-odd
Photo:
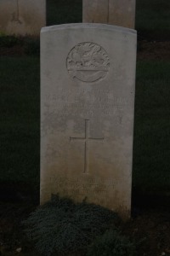
[[[134,256],[135,245],[116,230],[106,230],[88,247],[87,256]]]

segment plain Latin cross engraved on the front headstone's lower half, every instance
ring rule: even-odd
[[[84,143],[84,171],[88,173],[88,142],[89,140],[100,140],[103,141],[104,137],[89,137],[89,120],[85,119],[85,136],[84,137],[70,137],[71,141],[80,141]]]

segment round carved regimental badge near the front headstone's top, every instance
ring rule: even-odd
[[[110,60],[99,44],[85,42],[71,49],[66,66],[72,79],[95,82],[105,78],[109,72]]]

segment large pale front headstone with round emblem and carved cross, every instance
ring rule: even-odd
[[[131,208],[136,32],[42,28],[41,203],[51,194]]]

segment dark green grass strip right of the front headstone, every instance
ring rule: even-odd
[[[135,99],[133,185],[170,189],[170,61],[139,61]]]

